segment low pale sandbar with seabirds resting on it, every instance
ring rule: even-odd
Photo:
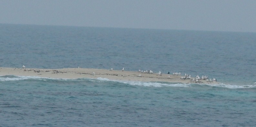
[[[95,74],[93,74],[93,72]],[[62,68],[62,69],[36,69],[36,68],[3,68],[0,67],[0,76],[37,76],[46,78],[108,78],[109,80],[120,81],[142,81],[142,82],[170,82],[170,83],[201,83],[201,84],[219,84],[218,82],[209,82],[199,80],[198,82],[190,81],[190,79],[180,79],[181,76],[173,76],[171,74],[162,74],[162,76],[153,74],[145,74],[136,71],[106,70],[94,68]],[[140,77],[139,77],[140,75]],[[170,76],[170,77],[169,77]],[[192,79],[192,78],[191,78]]]

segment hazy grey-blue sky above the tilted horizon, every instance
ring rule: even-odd
[[[256,32],[256,0],[0,0],[0,23]]]

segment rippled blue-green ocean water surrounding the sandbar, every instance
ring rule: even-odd
[[[0,67],[153,70],[220,84],[0,76],[0,126],[256,126],[256,33],[0,24]]]

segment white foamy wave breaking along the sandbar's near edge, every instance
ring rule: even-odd
[[[47,81],[57,83],[56,81],[68,81],[68,83],[72,84],[75,82],[69,81],[85,81],[86,83],[106,83],[108,84],[128,84],[132,86],[146,86],[146,87],[221,87],[221,88],[229,88],[229,89],[241,89],[241,88],[256,88],[256,84],[253,85],[232,85],[232,84],[184,84],[184,83],[169,83],[169,82],[139,82],[139,81],[116,81],[116,80],[109,80],[108,78],[101,78],[98,77],[97,79],[91,78],[77,78],[77,79],[64,79],[64,78],[43,78],[37,76],[13,76],[13,75],[6,75],[0,76],[0,82],[7,82],[7,81],[22,81],[22,80],[35,80],[35,81]],[[63,82],[61,82],[63,83]],[[67,84],[68,84],[67,83]]]

